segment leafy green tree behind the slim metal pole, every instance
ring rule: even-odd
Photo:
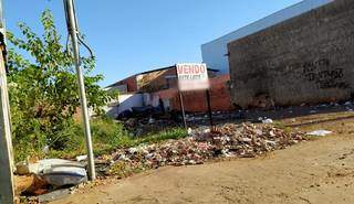
[[[51,11],[41,15],[44,33],[38,35],[25,23],[19,23],[23,34],[17,37],[8,33],[17,50],[9,51],[9,93],[14,141],[29,143],[33,151],[45,144],[54,149],[65,148],[67,129],[80,107],[73,57],[61,44]],[[29,54],[25,58],[22,54]],[[88,106],[95,112],[115,94],[102,90],[97,82],[102,75],[93,75],[94,58],[81,58],[85,74]]]

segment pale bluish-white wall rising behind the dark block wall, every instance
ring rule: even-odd
[[[275,25],[280,22],[283,22],[293,17],[300,15],[333,1],[334,0],[304,0],[298,4],[266,17],[264,19],[261,19],[252,24],[223,35],[215,41],[206,43],[201,45],[202,61],[204,63],[207,63],[208,67],[220,69],[220,74],[228,74],[229,61],[228,56],[226,56],[226,54],[228,53],[228,43],[257,33],[269,26]]]

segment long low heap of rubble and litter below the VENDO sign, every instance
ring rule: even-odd
[[[201,164],[216,158],[254,158],[304,140],[302,132],[285,132],[271,125],[233,125],[189,130],[188,138],[159,144],[122,149],[110,157],[112,167],[155,169],[165,165]]]

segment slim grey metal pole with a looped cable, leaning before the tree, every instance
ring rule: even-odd
[[[69,34],[72,40],[72,46],[73,46],[72,49],[73,49],[75,68],[77,74],[81,109],[82,109],[82,117],[84,122],[86,149],[87,149],[87,157],[88,157],[88,176],[90,176],[90,180],[95,180],[96,172],[95,172],[95,163],[94,163],[94,155],[93,155],[93,148],[92,148],[90,116],[88,116],[88,109],[87,109],[87,99],[85,95],[84,76],[83,76],[81,63],[80,63],[79,30],[77,30],[77,20],[76,20],[74,0],[64,0],[64,6],[65,6],[67,30],[70,32]]]

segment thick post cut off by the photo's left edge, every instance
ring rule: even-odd
[[[6,69],[6,30],[0,0],[0,203],[13,204],[13,152]]]

